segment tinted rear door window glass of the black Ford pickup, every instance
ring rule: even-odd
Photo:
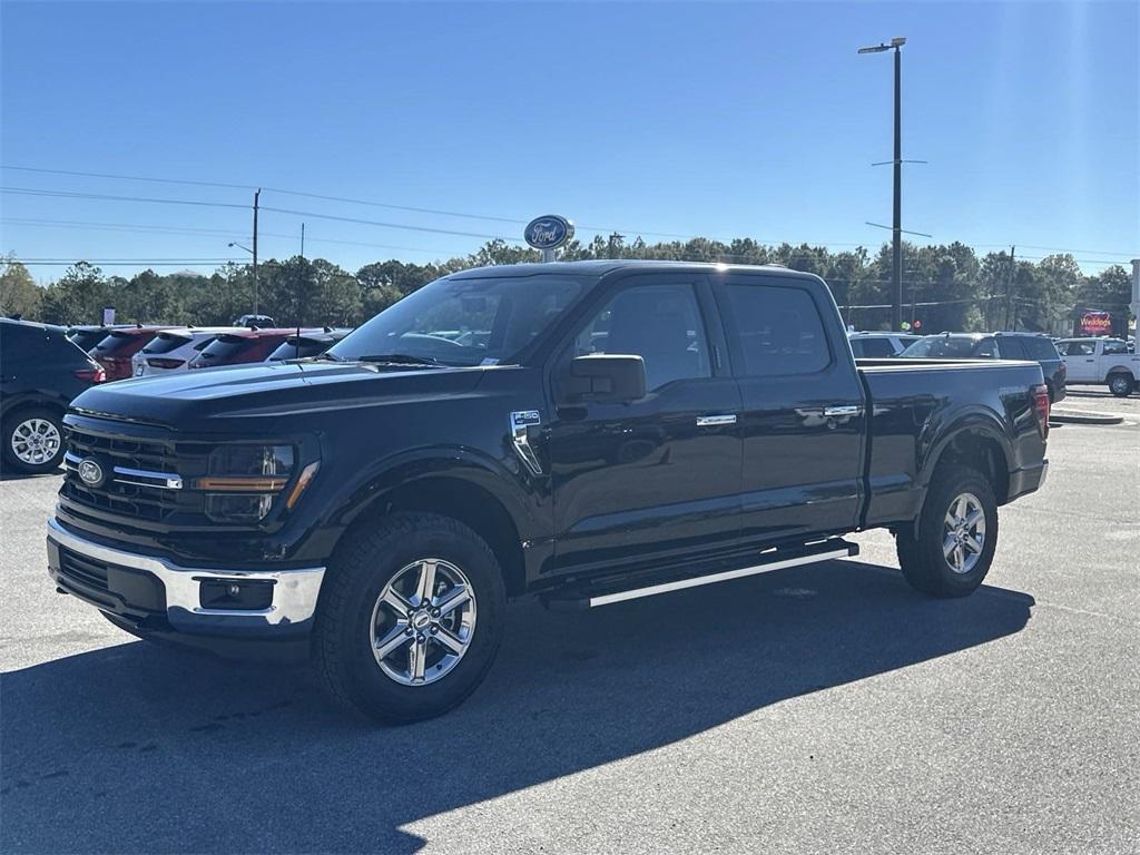
[[[815,374],[831,364],[823,320],[804,288],[738,279],[724,293],[738,375]]]

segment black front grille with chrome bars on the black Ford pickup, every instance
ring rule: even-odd
[[[186,479],[205,474],[212,445],[179,442],[165,437],[130,435],[79,423],[65,425],[67,477],[60,498],[100,518],[125,519],[137,524],[204,524],[201,494],[165,489],[160,478],[140,478],[123,472],[149,472]],[[79,478],[75,463],[92,458],[105,472],[98,487]],[[120,470],[116,472],[115,470]],[[150,483],[154,481],[155,483]]]

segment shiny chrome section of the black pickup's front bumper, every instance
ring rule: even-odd
[[[52,545],[57,548],[52,548]],[[165,589],[166,620],[172,629],[203,634],[292,634],[308,626],[317,610],[317,596],[325,568],[312,567],[290,570],[225,570],[181,567],[150,555],[137,555],[123,549],[88,540],[63,528],[55,519],[48,520],[48,572],[57,584],[85,598],[97,608],[107,610],[99,601],[84,597],[59,567],[58,547],[101,565],[125,568],[149,573]],[[272,601],[267,609],[203,608],[202,583],[270,583]]]

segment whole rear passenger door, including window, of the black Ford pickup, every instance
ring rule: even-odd
[[[824,288],[733,274],[716,284],[743,409],[743,535],[772,542],[858,522],[866,418]]]

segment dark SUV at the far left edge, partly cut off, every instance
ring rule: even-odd
[[[103,368],[67,340],[63,327],[0,319],[5,463],[28,474],[58,467],[67,405],[103,380]]]

